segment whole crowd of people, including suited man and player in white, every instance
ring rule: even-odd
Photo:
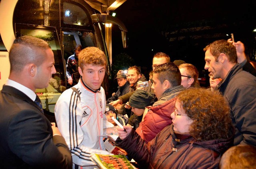
[[[31,63],[17,57],[26,50]],[[194,65],[159,52],[149,79],[131,65],[118,71],[118,88],[106,98],[105,54],[76,46],[67,61],[71,88],[54,108],[56,127],[34,93],[49,82],[60,90],[52,50],[41,39],[17,38],[0,93],[0,168],[96,168],[91,154],[111,154],[106,136],[116,136],[114,146],[138,168],[256,168],[256,70],[240,41],[203,50],[210,88],[200,87]]]

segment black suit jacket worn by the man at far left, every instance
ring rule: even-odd
[[[72,168],[62,136],[52,136],[52,124],[37,104],[12,86],[0,92],[0,168]]]

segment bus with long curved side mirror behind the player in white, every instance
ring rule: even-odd
[[[102,86],[108,91],[111,68],[104,24],[118,25],[123,46],[127,47],[127,29],[118,18],[100,14],[85,0],[0,0],[0,18],[0,90],[10,73],[8,56],[14,39],[31,35],[47,41],[54,53],[56,74],[52,78],[58,87],[36,89],[44,112],[54,113],[56,101],[66,90],[66,61],[78,44],[104,51],[108,64]]]

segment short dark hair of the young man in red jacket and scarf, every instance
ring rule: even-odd
[[[165,80],[169,81],[172,86],[178,86],[181,84],[180,70],[173,62],[156,66],[154,73],[158,74],[158,79],[161,84]]]

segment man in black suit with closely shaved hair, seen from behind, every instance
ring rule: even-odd
[[[10,76],[0,92],[0,168],[72,168],[60,131],[34,102],[36,88],[46,88],[56,73],[49,44],[19,37],[9,58]]]

